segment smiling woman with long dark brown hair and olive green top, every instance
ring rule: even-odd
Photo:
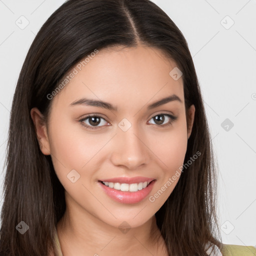
[[[6,167],[0,255],[256,251],[221,242],[192,58],[148,0],[69,0],[48,18],[17,82]]]

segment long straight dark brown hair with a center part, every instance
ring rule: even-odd
[[[35,36],[17,81],[9,123],[1,209],[0,255],[42,256],[54,248],[53,230],[65,211],[64,188],[50,155],[40,151],[30,109],[45,120],[51,93],[66,72],[94,49],[138,43],[155,47],[182,71],[185,108],[195,106],[184,168],[156,222],[172,256],[206,255],[210,241],[221,248],[216,202],[216,167],[192,57],[181,31],[149,0],[68,0]],[[187,116],[187,115],[186,115]],[[191,161],[191,160],[190,160]],[[16,226],[24,221],[29,231]],[[55,252],[55,250],[54,250]]]

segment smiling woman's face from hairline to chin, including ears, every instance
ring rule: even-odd
[[[156,48],[103,49],[75,66],[77,73],[51,99],[47,125],[31,110],[70,211],[135,227],[168,198],[194,114],[192,105],[186,120],[182,76],[169,74],[174,67]]]

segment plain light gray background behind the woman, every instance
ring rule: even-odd
[[[0,193],[21,65],[40,26],[63,2],[0,0]],[[153,2],[179,27],[193,56],[219,168],[222,240],[255,246],[256,0]]]

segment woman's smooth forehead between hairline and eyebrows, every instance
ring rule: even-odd
[[[101,49],[72,67],[67,75],[75,74],[54,100],[69,104],[79,97],[90,97],[131,108],[174,93],[184,101],[182,77],[174,80],[169,74],[175,67],[174,60],[157,48]]]

